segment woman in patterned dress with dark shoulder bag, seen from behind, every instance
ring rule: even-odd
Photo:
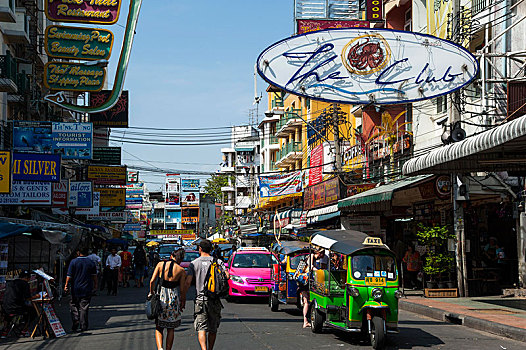
[[[158,263],[150,280],[150,294],[154,293],[157,279],[162,275],[161,312],[155,320],[155,342],[158,350],[171,350],[174,342],[174,329],[181,325],[181,314],[186,303],[186,273],[180,266],[184,259],[184,249],[173,251],[168,261]],[[166,329],[166,347],[163,348],[163,331]]]

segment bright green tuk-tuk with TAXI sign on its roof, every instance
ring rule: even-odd
[[[389,333],[398,333],[398,271],[395,254],[378,237],[352,230],[320,231],[311,249],[329,252],[326,269],[311,267],[311,324],[362,332],[374,349],[385,346]]]

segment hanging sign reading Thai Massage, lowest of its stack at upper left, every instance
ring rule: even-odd
[[[106,69],[84,63],[48,62],[44,67],[44,85],[51,90],[96,92],[102,90]]]

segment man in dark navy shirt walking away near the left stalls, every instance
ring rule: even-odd
[[[82,248],[78,257],[69,264],[64,291],[71,290],[70,311],[72,330],[88,330],[88,313],[91,296],[97,289],[97,267],[88,258],[88,249]]]

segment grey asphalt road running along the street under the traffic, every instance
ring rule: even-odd
[[[72,334],[60,339],[0,341],[0,349],[141,349],[154,350],[154,326],[143,314],[145,290],[124,289],[117,297],[101,296],[93,301],[90,334]],[[298,350],[298,349],[370,349],[359,338],[326,329],[313,334],[301,327],[301,315],[293,307],[282,307],[272,313],[266,303],[224,303],[216,349]],[[192,329],[192,302],[183,315],[183,324],[176,330],[175,350],[198,349]],[[58,313],[66,330],[71,327],[65,305]],[[524,343],[483,334],[469,328],[438,322],[408,312],[401,312],[399,335],[391,336],[391,349],[524,349]]]

